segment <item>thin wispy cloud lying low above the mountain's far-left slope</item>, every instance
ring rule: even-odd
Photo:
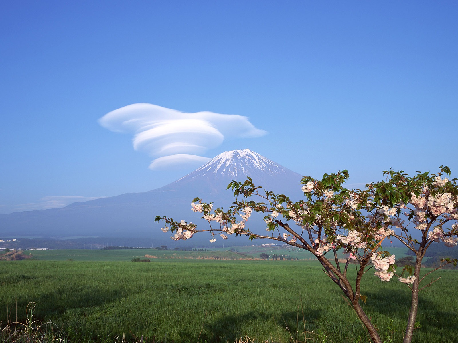
[[[36,209],[55,209],[65,207],[76,202],[95,200],[105,197],[83,197],[79,195],[62,195],[43,197],[36,203],[16,204],[16,205],[0,205],[1,213],[33,211]]]

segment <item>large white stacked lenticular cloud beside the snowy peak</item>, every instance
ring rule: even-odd
[[[261,137],[247,117],[213,112],[183,113],[148,103],[132,104],[105,114],[98,121],[114,132],[133,134],[135,150],[154,157],[150,169],[200,165],[199,156],[224,139]]]

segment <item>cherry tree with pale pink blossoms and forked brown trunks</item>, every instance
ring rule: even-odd
[[[195,198],[191,209],[202,214],[208,227],[199,228],[184,220],[180,222],[167,216],[157,216],[171,231],[173,240],[186,240],[197,232],[209,231],[211,242],[229,235],[248,236],[283,242],[305,249],[316,256],[327,276],[338,285],[349,300],[355,313],[364,324],[372,342],[382,343],[376,327],[367,316],[361,302],[361,279],[368,269],[388,282],[397,277],[412,293],[404,343],[412,341],[421,289],[431,286],[425,277],[434,270],[420,275],[421,261],[431,243],[443,242],[448,247],[458,243],[458,187],[456,180],[443,178],[450,175],[447,166],[441,166],[437,174],[417,172],[409,177],[403,171],[383,171],[385,181],[369,183],[364,190],[344,187],[348,171],[324,174],[322,180],[303,177],[304,198],[293,202],[284,194],[276,194],[256,186],[250,177],[245,182],[233,181],[228,188],[234,191],[234,203],[227,210],[213,209],[212,203]],[[250,230],[247,221],[253,212],[265,214],[266,233]],[[414,231],[414,236],[411,232]],[[397,239],[414,252],[413,266],[398,267],[395,256],[383,251],[381,244],[386,237]],[[417,237],[417,238],[414,238]],[[346,254],[339,262],[338,251]],[[355,263],[356,277],[350,279],[347,270]],[[457,259],[443,260],[443,264],[457,264]],[[423,281],[423,283],[422,283]]]

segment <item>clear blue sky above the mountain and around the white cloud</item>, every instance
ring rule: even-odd
[[[203,159],[250,148],[304,175],[348,169],[355,184],[389,168],[458,176],[457,17],[456,1],[3,2],[0,213],[194,170],[152,170],[157,139],[134,150],[135,132],[102,125],[136,103],[234,115],[185,152]]]

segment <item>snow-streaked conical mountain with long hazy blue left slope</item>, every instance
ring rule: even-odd
[[[125,193],[109,198],[73,203],[63,208],[0,214],[0,233],[12,236],[104,236],[149,237],[158,244],[170,244],[169,236],[153,222],[156,215],[199,222],[200,214],[190,210],[193,198],[212,201],[227,208],[233,193],[229,182],[251,177],[256,185],[291,198],[303,196],[300,174],[249,149],[226,151],[185,177],[144,193]],[[252,225],[264,230],[262,220]],[[206,225],[201,223],[201,225]],[[207,239],[202,235],[202,239]],[[197,239],[197,236],[196,236]],[[193,238],[193,241],[196,241]]]

